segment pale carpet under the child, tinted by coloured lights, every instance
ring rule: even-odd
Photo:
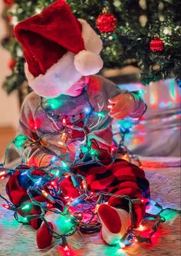
[[[158,159],[149,158],[145,164],[146,177],[150,181],[152,200],[158,201],[163,208],[180,209],[180,168],[178,161],[172,158]],[[153,166],[152,163],[153,162]],[[160,163],[156,165],[155,163]],[[176,162],[173,166],[171,163]],[[161,163],[167,163],[161,164]],[[168,164],[170,163],[170,164]],[[5,182],[0,183],[0,193],[5,195]],[[2,204],[0,200],[0,204]],[[150,211],[156,212],[156,208]],[[100,233],[81,234],[76,232],[67,241],[77,256],[179,256],[181,254],[180,244],[180,216],[175,212],[164,212],[166,222],[160,224],[158,231],[153,235],[153,243],[136,243],[123,250],[107,246],[101,241]],[[145,230],[152,226],[152,221],[146,221]],[[0,208],[0,256],[60,256],[61,247],[57,244],[38,250],[36,246],[36,231],[30,226],[18,224],[13,218],[12,211]]]

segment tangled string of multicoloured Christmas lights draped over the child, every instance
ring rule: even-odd
[[[90,164],[98,164],[104,165],[97,155],[97,151],[91,148],[90,138],[88,138],[87,132],[87,121],[91,118],[91,115],[97,115],[100,119],[108,114],[108,111],[96,112],[92,107],[90,101],[87,98],[86,90],[84,91],[84,97],[87,100],[88,107],[84,109],[84,113],[82,115],[82,121],[84,121],[84,125],[80,128],[77,126],[77,121],[71,123],[71,125],[66,121],[68,117],[61,117],[61,119],[54,114],[54,104],[51,101],[51,104],[48,109],[44,108],[42,99],[40,102],[41,109],[44,111],[45,115],[51,120],[51,126],[54,128],[52,133],[61,134],[62,143],[65,148],[68,147],[70,140],[68,141],[68,136],[70,136],[71,131],[73,129],[77,129],[77,131],[81,131],[84,134],[84,144],[78,146],[77,155],[75,156],[74,161],[69,159],[68,152],[64,155],[52,155],[51,161],[48,165],[43,167],[36,167],[35,165],[31,165],[31,167],[23,164],[23,154],[22,154],[22,163],[18,165],[14,169],[5,168],[6,156],[8,155],[9,148],[14,145],[17,149],[25,149],[32,146],[41,147],[40,141],[44,137],[45,134],[50,134],[49,131],[41,131],[41,129],[35,124],[35,129],[41,134],[41,137],[38,140],[31,140],[25,135],[18,135],[11,143],[8,145],[8,148],[5,152],[5,161],[4,164],[0,165],[0,180],[4,180],[5,178],[11,178],[12,175],[19,175],[23,184],[28,183],[27,185],[27,196],[28,201],[25,201],[21,205],[12,204],[12,202],[8,201],[6,198],[0,197],[5,200],[6,204],[2,204],[2,206],[8,210],[14,211],[14,217],[16,221],[22,224],[28,224],[29,221],[39,219],[44,221],[44,224],[48,226],[48,230],[52,234],[54,238],[62,239],[62,246],[64,251],[69,252],[69,248],[67,245],[66,237],[74,234],[75,231],[80,230],[83,233],[90,234],[97,231],[100,231],[100,221],[97,218],[97,209],[100,204],[107,203],[108,198],[110,196],[114,196],[117,198],[124,198],[128,201],[129,205],[129,213],[131,218],[131,225],[127,229],[127,232],[123,235],[123,238],[120,238],[118,244],[120,248],[124,248],[127,245],[133,244],[136,241],[138,242],[151,242],[151,237],[156,232],[160,223],[165,221],[165,218],[161,215],[166,209],[163,209],[160,204],[156,203],[156,207],[160,208],[160,213],[153,215],[146,213],[145,218],[154,218],[155,224],[153,224],[152,229],[148,237],[142,237],[141,235],[134,234],[133,228],[133,204],[146,204],[148,201],[145,201],[143,198],[131,199],[127,195],[118,195],[111,194],[105,192],[94,193],[92,191],[87,190],[87,182],[86,178],[82,175],[78,175],[74,173],[74,168],[81,165],[90,165]],[[56,102],[55,102],[56,103]],[[61,121],[61,122],[60,122]],[[60,125],[61,123],[61,125]],[[122,154],[125,151],[128,151],[127,148],[123,145],[124,136],[129,132],[129,129],[120,128],[120,132],[123,135],[120,143],[118,145],[109,145],[106,141],[101,140],[96,136],[92,136],[91,138],[95,138],[96,140],[106,143],[110,147],[110,154],[112,161],[114,162],[120,151]],[[51,133],[51,134],[52,134]],[[82,139],[82,138],[81,138]],[[80,142],[80,138],[77,138],[77,141]],[[82,141],[81,141],[82,142]],[[80,143],[79,143],[80,144]],[[80,158],[81,148],[83,149],[84,155]],[[48,151],[46,151],[48,152]],[[128,151],[129,152],[129,151]],[[50,154],[50,152],[48,152]],[[87,158],[88,155],[88,158]],[[136,158],[132,155],[132,158]],[[60,161],[60,165],[56,164],[56,161]],[[138,163],[141,165],[140,160],[137,159]],[[36,172],[38,171],[38,173]],[[70,198],[63,194],[61,181],[64,181],[66,178],[71,178],[71,183],[74,188],[77,188],[79,192],[79,196],[76,198]],[[35,194],[41,195],[44,198],[43,202],[39,202],[35,200]],[[38,208],[38,214],[31,214],[31,210],[33,208]],[[174,209],[169,209],[170,211],[176,211]],[[67,224],[67,232],[64,234],[58,234],[51,229],[51,226],[45,220],[44,216],[47,211],[51,211],[54,214],[58,214],[64,224]],[[176,211],[180,213],[180,211]],[[88,217],[87,217],[88,216]],[[141,224],[140,224],[141,229]]]

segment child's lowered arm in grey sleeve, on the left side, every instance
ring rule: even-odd
[[[19,120],[19,133],[26,135],[31,141],[36,142],[27,148],[18,149],[18,151],[22,155],[22,159],[26,165],[42,167],[50,164],[54,154],[51,154],[46,148],[42,147],[41,143],[39,143],[40,138],[38,138],[34,118],[39,101],[39,96],[31,93],[22,105]]]

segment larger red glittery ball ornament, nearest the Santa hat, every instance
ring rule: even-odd
[[[96,20],[100,33],[114,32],[117,26],[117,18],[112,13],[103,13]]]

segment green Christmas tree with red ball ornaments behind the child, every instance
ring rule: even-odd
[[[54,0],[4,0],[6,16],[12,27]],[[181,2],[174,0],[67,0],[74,15],[84,18],[100,34],[104,42],[101,57],[105,68],[140,68],[143,84],[166,78],[180,78],[181,26],[178,10]],[[55,17],[56,18],[56,17]],[[15,38],[2,42],[12,54],[12,75],[4,84],[11,92],[25,79],[24,58]],[[15,65],[14,65],[15,64]]]

